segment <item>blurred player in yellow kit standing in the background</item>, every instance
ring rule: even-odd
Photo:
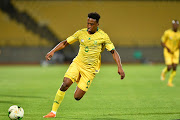
[[[165,75],[172,69],[168,80],[168,86],[173,87],[173,78],[176,75],[176,68],[179,63],[180,31],[178,30],[179,21],[172,21],[172,29],[166,30],[162,36],[161,45],[164,48],[164,59],[167,65],[161,73],[161,80],[165,80]]]

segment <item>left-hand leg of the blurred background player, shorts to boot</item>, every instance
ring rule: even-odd
[[[161,72],[161,80],[165,80],[166,73],[172,69],[172,55],[164,50],[164,60],[166,67]]]

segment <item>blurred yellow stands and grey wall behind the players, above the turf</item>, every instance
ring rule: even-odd
[[[0,64],[41,63],[46,53],[78,29],[87,14],[101,15],[100,28],[110,36],[124,63],[162,63],[160,39],[180,20],[180,2],[163,0],[1,0]],[[52,62],[70,62],[78,43]],[[113,62],[103,52],[102,62]]]

